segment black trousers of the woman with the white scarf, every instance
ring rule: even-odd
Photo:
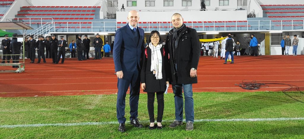
[[[155,93],[148,92],[148,113],[150,117],[150,123],[154,123],[154,99]],[[156,92],[157,98],[157,122],[161,122],[164,114],[164,92]]]

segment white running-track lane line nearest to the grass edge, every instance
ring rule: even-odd
[[[170,85],[171,86],[171,85]],[[299,88],[304,88],[304,86],[298,86]],[[264,88],[264,87],[263,87]],[[268,88],[289,88],[289,86],[286,87],[265,87],[265,89]],[[297,88],[295,86],[293,86],[292,88]],[[172,89],[172,88],[168,88],[168,89]],[[205,88],[192,88],[192,89],[242,89],[240,87],[205,87]],[[261,88],[262,89],[262,88]],[[128,89],[129,91],[130,89]],[[140,89],[142,90],[142,89]],[[244,89],[242,89],[244,90]],[[30,91],[30,92],[0,92],[0,93],[5,93],[5,94],[9,94],[9,93],[45,93],[45,92],[93,92],[93,91],[118,91],[118,89],[107,89],[107,90],[66,90],[66,91]],[[246,90],[244,90],[246,91]],[[243,91],[243,92],[244,92]],[[104,93],[104,92],[102,92]]]

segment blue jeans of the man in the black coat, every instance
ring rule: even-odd
[[[184,89],[186,122],[194,122],[194,102],[192,98],[192,84],[172,85],[172,89],[174,93],[175,103],[175,120],[183,121],[184,100],[182,91]]]

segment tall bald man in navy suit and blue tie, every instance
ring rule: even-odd
[[[118,77],[117,93],[117,120],[119,122],[118,130],[125,132],[125,98],[126,92],[130,86],[130,123],[135,127],[143,127],[139,123],[138,99],[140,91],[140,57],[144,50],[144,31],[137,27],[139,21],[138,12],[132,10],[128,15],[129,23],[118,29],[115,33],[115,42],[113,48],[113,59],[115,71]]]

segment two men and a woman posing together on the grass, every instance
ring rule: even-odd
[[[149,129],[162,129],[164,92],[172,85],[175,102],[175,120],[169,125],[174,128],[183,123],[185,100],[186,130],[193,130],[194,101],[192,84],[197,83],[197,67],[200,56],[199,37],[195,29],[185,26],[180,14],[171,17],[173,29],[166,43],[161,42],[158,31],[152,31],[147,45],[144,30],[137,26],[140,19],[132,10],[127,17],[129,23],[115,33],[113,58],[118,78],[117,120],[118,130],[125,132],[125,97],[130,86],[130,124],[143,127],[138,120],[140,86],[147,92],[147,108],[150,117]],[[165,44],[163,46],[162,44]],[[140,85],[141,82],[141,85]],[[184,91],[184,97],[182,92]],[[157,97],[157,125],[154,125],[154,98]]]

